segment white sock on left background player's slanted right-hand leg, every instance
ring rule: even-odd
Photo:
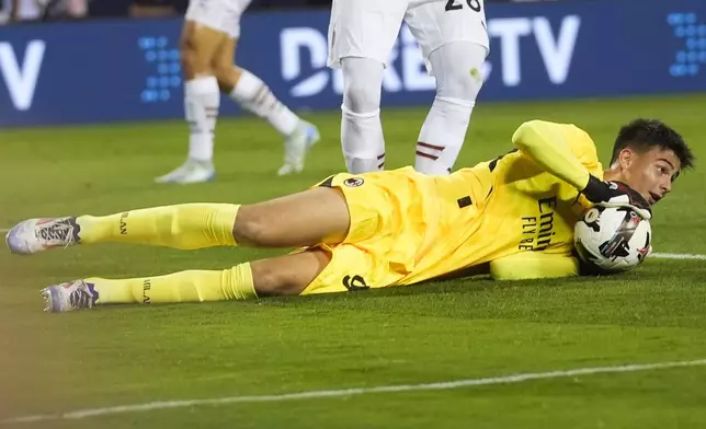
[[[289,136],[297,128],[299,117],[274,96],[270,88],[246,69],[230,92],[230,97],[253,114],[266,118],[282,134]]]

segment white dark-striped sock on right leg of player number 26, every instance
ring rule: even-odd
[[[436,96],[422,125],[414,170],[430,175],[449,174],[466,138],[474,103]]]

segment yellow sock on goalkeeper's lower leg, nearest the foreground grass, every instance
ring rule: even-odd
[[[187,270],[122,280],[84,279],[98,292],[96,304],[169,303],[258,298],[250,263],[224,270]]]

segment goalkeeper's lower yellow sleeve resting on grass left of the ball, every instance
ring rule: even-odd
[[[530,280],[578,276],[579,260],[569,255],[522,252],[490,262],[493,280]]]

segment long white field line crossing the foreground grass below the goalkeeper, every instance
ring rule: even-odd
[[[566,371],[550,371],[550,372],[526,372],[505,376],[491,376],[483,379],[466,379],[456,381],[445,381],[439,383],[425,384],[398,384],[376,387],[360,387],[360,389],[341,389],[331,391],[305,391],[297,393],[285,393],[280,395],[258,395],[258,396],[227,396],[213,399],[190,399],[190,401],[164,401],[151,402],[133,405],[119,405],[106,408],[87,408],[79,409],[62,414],[54,415],[36,415],[26,417],[15,417],[7,420],[1,420],[3,424],[19,424],[19,422],[35,422],[45,420],[59,420],[59,419],[81,419],[86,417],[107,416],[137,411],[151,411],[156,409],[172,409],[172,408],[186,408],[202,405],[226,405],[226,404],[243,404],[243,403],[262,403],[262,402],[284,402],[296,399],[315,399],[315,398],[330,398],[330,397],[344,397],[353,395],[366,394],[382,394],[382,393],[399,393],[399,392],[420,392],[420,391],[446,391],[452,389],[493,385],[493,384],[513,384],[531,380],[547,380],[578,375],[591,374],[605,374],[605,373],[620,373],[620,372],[636,372],[636,371],[653,371],[663,370],[669,368],[680,367],[696,367],[706,366],[706,359],[675,361],[675,362],[661,362],[661,363],[646,363],[646,364],[624,364],[616,367],[596,367],[596,368],[579,368]]]

